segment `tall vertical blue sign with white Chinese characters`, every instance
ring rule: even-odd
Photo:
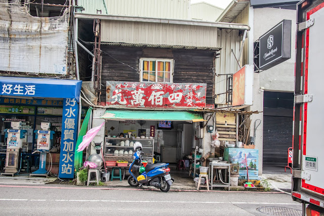
[[[77,138],[78,103],[75,98],[63,100],[60,178],[74,177],[74,149]]]

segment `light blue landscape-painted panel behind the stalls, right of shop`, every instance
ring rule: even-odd
[[[247,156],[247,160],[245,159],[245,156]],[[239,164],[238,179],[247,179],[247,165],[249,170],[249,179],[258,179],[259,150],[244,148],[224,148],[224,160],[232,164]]]

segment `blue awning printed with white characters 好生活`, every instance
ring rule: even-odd
[[[79,100],[82,81],[26,77],[0,77],[0,95]]]

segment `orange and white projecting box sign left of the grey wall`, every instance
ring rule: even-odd
[[[232,105],[241,109],[252,105],[254,65],[246,64],[233,74]]]

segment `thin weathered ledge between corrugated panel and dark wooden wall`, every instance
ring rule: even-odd
[[[149,47],[166,49],[185,49],[185,50],[221,50],[220,47],[195,47],[195,46],[174,46],[174,45],[154,45],[154,44],[127,44],[127,43],[108,43],[101,42],[102,45],[121,46],[121,47]]]

